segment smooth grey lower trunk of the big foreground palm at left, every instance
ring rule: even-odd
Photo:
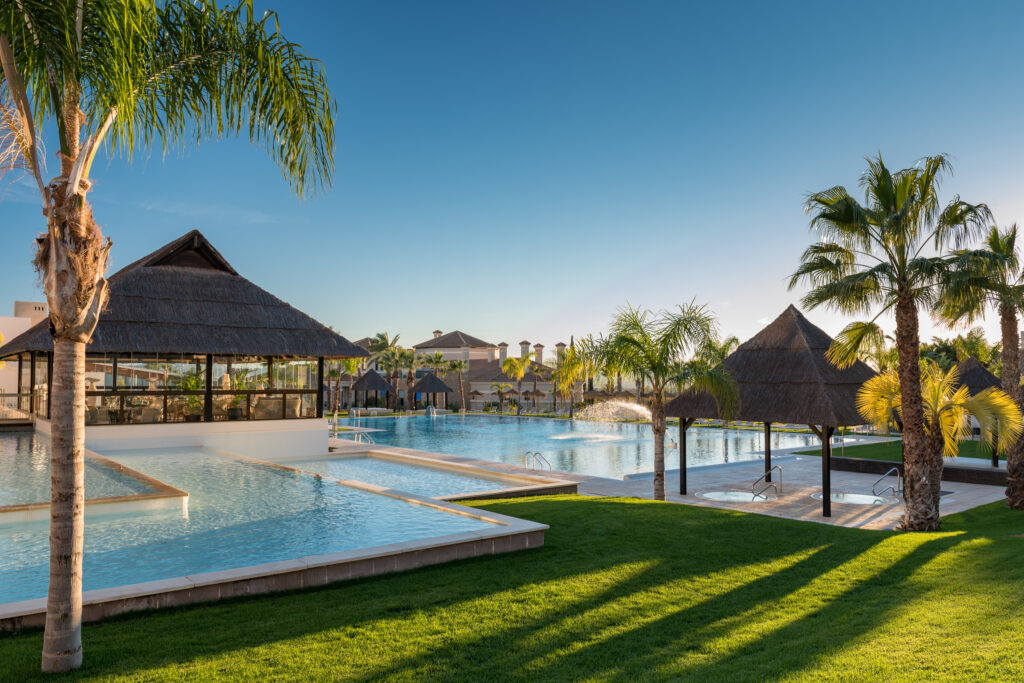
[[[44,672],[82,666],[82,553],[85,536],[85,344],[53,340],[50,404],[50,586]]]

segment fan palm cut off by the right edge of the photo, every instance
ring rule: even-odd
[[[951,260],[954,270],[942,284],[936,308],[944,319],[953,324],[978,321],[989,306],[998,311],[1002,339],[1000,383],[1002,390],[1020,405],[1018,330],[1020,311],[1024,308],[1024,269],[1017,249],[1017,225],[1005,231],[991,228],[984,247],[958,251]],[[984,336],[981,337],[984,341]],[[968,350],[968,343],[962,346]],[[1007,452],[1007,504],[1024,510],[1024,439]]]

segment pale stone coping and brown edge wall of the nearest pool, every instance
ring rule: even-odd
[[[361,481],[322,478],[449,513],[475,517],[495,526],[85,591],[82,594],[82,621],[94,622],[140,609],[176,607],[224,598],[326,586],[470,557],[540,548],[544,545],[544,532],[549,528],[547,524],[540,522],[467,508]],[[38,628],[44,626],[45,622],[45,597],[0,604],[0,631]]]

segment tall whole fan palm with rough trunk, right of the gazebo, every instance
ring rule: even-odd
[[[938,528],[938,499],[929,482],[936,476],[928,459],[925,416],[921,402],[918,307],[931,305],[936,283],[948,270],[942,256],[928,249],[961,247],[990,218],[985,205],[954,198],[940,206],[939,183],[950,171],[944,156],[928,157],[918,166],[892,172],[881,155],[867,160],[860,178],[866,203],[858,203],[845,187],[813,193],[807,199],[811,229],[821,238],[803,254],[790,288],[810,284],[803,303],[827,305],[848,314],[869,314],[869,322],[848,325],[828,350],[840,368],[852,365],[861,347],[882,343],[877,321],[896,314],[896,348],[903,404],[906,529]]]

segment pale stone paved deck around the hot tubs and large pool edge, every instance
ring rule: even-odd
[[[332,446],[336,452],[340,453],[367,450],[366,443],[349,441],[343,438],[332,439]],[[489,460],[474,460],[381,443],[376,443],[372,447],[378,453],[395,453],[434,459],[443,463],[479,467],[499,472],[534,475],[551,474],[559,479],[579,482],[579,493],[583,496],[652,499],[654,494],[653,480],[649,475],[636,475],[626,480],[608,479],[571,472],[556,471],[549,473],[548,470],[538,471]],[[678,471],[670,471],[666,476],[666,498],[673,503],[738,510],[853,528],[895,528],[903,515],[902,502],[897,502],[893,505],[872,506],[833,503],[831,516],[823,517],[821,514],[821,501],[812,498],[814,494],[821,493],[821,460],[815,456],[794,455],[795,451],[806,450],[791,449],[773,452],[772,464],[777,464],[782,468],[781,492],[777,494],[775,500],[759,503],[725,503],[709,501],[698,496],[700,493],[710,490],[750,492],[753,482],[764,473],[764,462],[762,460],[730,463],[727,465],[691,467],[687,470],[686,496],[681,496],[679,493]],[[838,453],[834,453],[834,455],[838,455]],[[974,458],[952,458],[947,460],[946,463],[961,467],[993,469],[987,461]],[[878,479],[879,475],[877,474],[833,470],[831,489],[834,493],[869,494],[872,484]],[[890,479],[893,482],[895,481],[895,477],[890,477]],[[885,484],[880,484],[880,490],[882,485]],[[985,505],[1005,498],[1001,486],[985,484],[943,481],[942,490],[949,492],[942,497],[941,512],[943,516],[970,510],[979,505]],[[775,492],[772,490],[770,493]]]

